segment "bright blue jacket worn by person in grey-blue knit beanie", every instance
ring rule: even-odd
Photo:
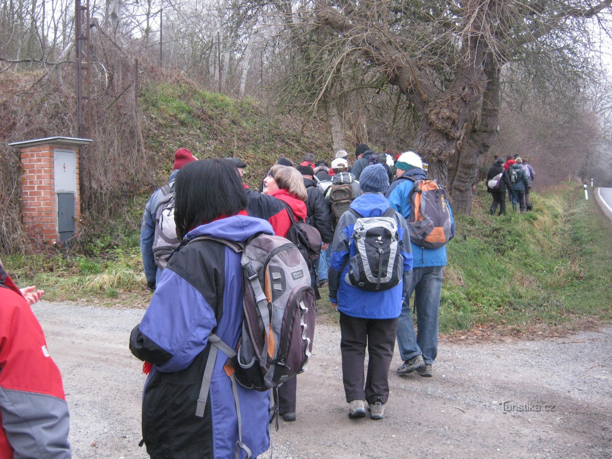
[[[363,217],[379,217],[389,209],[389,202],[380,193],[364,193],[351,203],[354,209]],[[346,211],[336,227],[334,245],[329,260],[329,299],[338,303],[338,310],[348,316],[364,319],[394,319],[400,316],[401,302],[405,299],[412,275],[412,254],[408,243],[408,226],[406,220],[397,212],[395,221],[400,239],[400,253],[403,257],[403,279],[393,288],[381,292],[370,292],[348,285],[345,275],[348,273],[349,257],[357,253],[357,248],[351,244],[353,226],[357,216]]]

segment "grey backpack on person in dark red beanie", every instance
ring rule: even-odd
[[[155,234],[153,236],[153,258],[160,269],[168,264],[168,257],[179,247],[181,241],[176,235],[174,223],[174,182],[163,185],[163,198],[155,209]]]

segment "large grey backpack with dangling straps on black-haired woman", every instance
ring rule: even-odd
[[[224,370],[231,379],[238,416],[239,441],[235,446],[251,457],[242,443],[242,416],[236,384],[260,392],[275,389],[289,378],[306,370],[315,336],[315,291],[310,285],[306,261],[295,244],[284,237],[262,234],[246,245],[214,237],[196,237],[196,241],[212,240],[241,253],[244,289],[242,335],[237,349],[215,334],[209,335],[211,349],[206,361],[196,416],[203,417],[212,371],[218,351],[228,357]],[[274,391],[274,401],[277,395]],[[278,409],[271,409],[271,422]]]

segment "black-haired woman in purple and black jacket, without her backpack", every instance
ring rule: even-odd
[[[242,330],[241,256],[221,242],[274,234],[247,217],[247,196],[233,165],[213,159],[184,166],[176,178],[174,220],[181,247],[163,270],[151,304],[132,330],[130,349],[149,372],[143,394],[143,441],[152,458],[233,459],[269,448],[269,393],[237,386],[239,417],[226,357],[218,353],[204,416],[196,405],[214,332],[235,349]],[[248,419],[248,422],[244,422]]]

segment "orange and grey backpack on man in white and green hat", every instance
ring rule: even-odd
[[[410,240],[421,248],[440,248],[455,236],[446,190],[430,179],[415,180],[409,194]]]

